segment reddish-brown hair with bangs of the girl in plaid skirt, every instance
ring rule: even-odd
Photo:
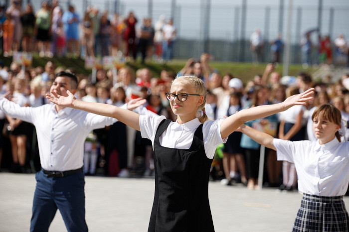
[[[321,116],[329,121],[332,121],[336,123],[337,125],[341,126],[342,121],[342,114],[340,110],[338,110],[334,105],[332,104],[323,104],[317,107],[313,113],[312,120],[314,121],[314,118],[317,116]],[[336,132],[336,137],[338,141],[341,141],[341,135],[339,131]]]

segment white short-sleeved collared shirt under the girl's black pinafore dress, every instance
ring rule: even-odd
[[[155,134],[158,126],[165,116],[140,116],[140,128],[142,137],[152,140],[154,147]],[[220,123],[224,118],[220,120],[207,120],[203,123],[203,144],[205,148],[206,156],[210,159],[213,158],[214,152],[220,143],[225,143],[228,137],[221,138]],[[169,148],[176,149],[189,149],[194,137],[196,128],[201,124],[199,119],[195,119],[179,124],[177,121],[170,122],[167,129],[159,137],[160,145]]]

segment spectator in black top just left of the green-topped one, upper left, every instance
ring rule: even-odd
[[[35,27],[35,15],[33,13],[33,6],[28,3],[25,6],[25,11],[20,18],[23,28],[23,38],[22,38],[22,51],[23,52],[31,52],[33,35],[34,35],[34,27]]]

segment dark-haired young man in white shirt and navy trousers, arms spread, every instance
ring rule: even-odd
[[[50,91],[67,96],[75,94],[77,78],[73,73],[56,74]],[[36,127],[42,169],[36,173],[30,231],[48,231],[59,209],[68,231],[88,231],[85,222],[83,151],[87,134],[117,120],[53,104],[19,107],[0,99],[6,115]]]

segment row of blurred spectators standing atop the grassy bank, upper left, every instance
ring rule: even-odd
[[[89,5],[81,16],[73,5],[64,11],[58,0],[44,0],[36,10],[30,2],[22,4],[11,0],[6,9],[0,7],[0,47],[5,57],[23,51],[40,57],[125,56],[135,60],[140,54],[142,62],[172,59],[176,29],[164,15],[153,25],[149,17],[139,22],[132,11],[126,16],[110,15]],[[141,26],[136,27],[137,23]]]

